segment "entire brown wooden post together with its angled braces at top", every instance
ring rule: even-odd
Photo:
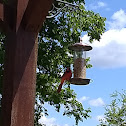
[[[1,126],[34,126],[37,34],[52,1],[8,0],[4,7],[0,4],[0,10],[4,8],[0,21],[6,26]]]

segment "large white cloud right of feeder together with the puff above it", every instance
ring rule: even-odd
[[[126,67],[126,28],[124,28],[126,25],[126,15],[123,10],[120,10],[114,13],[112,17],[112,27],[117,25],[119,29],[117,27],[115,29],[111,28],[103,33],[100,42],[94,41],[92,44],[93,50],[88,52],[88,56],[91,57],[91,64],[94,67]],[[82,39],[83,42],[89,43],[87,35],[84,35]]]

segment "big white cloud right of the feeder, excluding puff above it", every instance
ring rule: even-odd
[[[100,42],[93,43],[91,63],[101,68],[126,67],[126,28],[109,30]]]

